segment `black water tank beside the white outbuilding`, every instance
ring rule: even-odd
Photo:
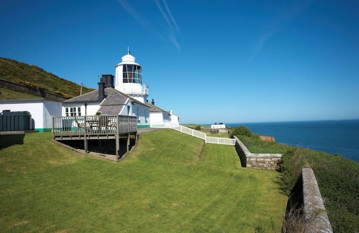
[[[10,112],[10,110],[3,110],[2,113],[0,113],[0,131],[26,130],[31,130],[30,112]]]

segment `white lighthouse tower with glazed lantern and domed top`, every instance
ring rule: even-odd
[[[148,97],[148,85],[142,84],[142,67],[135,62],[135,57],[127,48],[127,55],[116,67],[115,89],[146,104]]]

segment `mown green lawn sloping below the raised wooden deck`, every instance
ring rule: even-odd
[[[251,233],[273,219],[280,232],[279,173],[240,167],[233,146],[156,131],[116,163],[50,138],[0,136],[1,231]]]

